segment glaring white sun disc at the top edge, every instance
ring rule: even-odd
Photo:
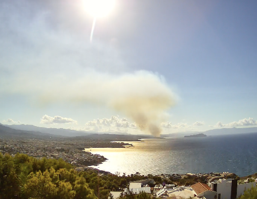
[[[114,8],[115,0],[83,0],[85,10],[94,18],[107,16]]]

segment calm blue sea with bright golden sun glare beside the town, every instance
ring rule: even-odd
[[[257,172],[257,133],[198,138],[170,137],[128,142],[126,148],[90,148],[108,158],[94,168],[111,173],[141,175]]]

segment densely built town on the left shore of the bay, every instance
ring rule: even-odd
[[[48,159],[62,158],[65,162],[77,167],[98,165],[106,161],[102,155],[92,154],[83,150],[79,141],[68,142],[63,140],[38,140],[15,138],[1,139],[0,152],[9,153],[14,156],[16,153],[24,153],[36,158],[46,157]]]

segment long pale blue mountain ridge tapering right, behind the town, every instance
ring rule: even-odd
[[[67,136],[67,137],[75,137],[75,136],[87,136],[90,134],[121,134],[121,135],[129,135],[127,133],[113,133],[113,132],[95,132],[95,131],[76,131],[70,129],[57,129],[57,128],[44,128],[44,127],[36,127],[33,125],[4,125],[6,127],[10,127],[16,130],[23,130],[23,131],[37,131],[41,133],[47,133],[52,135],[58,136]]]

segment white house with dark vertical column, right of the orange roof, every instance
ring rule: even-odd
[[[219,179],[209,182],[211,190],[218,193],[218,199],[236,199],[244,193],[245,189],[256,187],[255,182],[243,182],[239,184],[235,179]]]

